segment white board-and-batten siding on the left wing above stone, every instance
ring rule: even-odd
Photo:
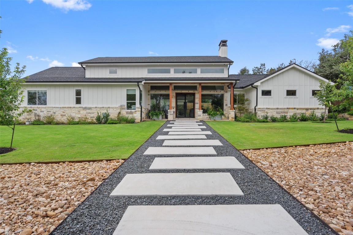
[[[25,99],[24,106],[28,106],[27,91],[47,91],[46,106],[120,106],[126,105],[126,90],[136,89],[136,107],[139,107],[139,89],[136,85],[124,84],[92,84],[92,85],[23,85]],[[75,104],[75,89],[81,89],[81,105]]]

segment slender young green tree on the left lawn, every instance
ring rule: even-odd
[[[20,64],[16,63],[12,72],[10,64],[12,58],[7,55],[7,49],[2,48],[0,50],[0,123],[12,129],[10,146],[12,148],[16,119],[31,110],[24,108],[18,112],[24,98],[22,84],[25,83],[25,80],[21,79],[21,77],[25,72],[26,66],[22,66],[21,68]],[[13,128],[10,125],[13,125]]]

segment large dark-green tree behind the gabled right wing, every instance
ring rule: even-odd
[[[342,63],[349,60],[347,41],[349,41],[349,38],[353,35],[353,32],[350,32],[351,34],[345,34],[344,38],[334,45],[331,51],[322,49],[322,51],[319,52],[319,64],[315,69],[315,73],[335,83],[339,80],[342,74],[340,66]],[[343,76],[344,75],[345,74],[343,74]]]

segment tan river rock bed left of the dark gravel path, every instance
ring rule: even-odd
[[[123,160],[0,166],[0,235],[47,235]]]

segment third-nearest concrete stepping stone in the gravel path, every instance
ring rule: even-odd
[[[245,169],[231,156],[226,157],[156,157],[150,170],[170,169]]]

